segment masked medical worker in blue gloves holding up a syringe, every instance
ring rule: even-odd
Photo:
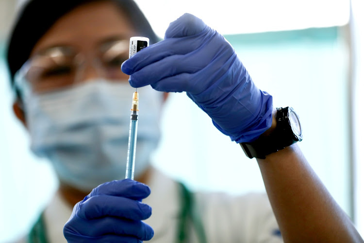
[[[138,35],[151,45],[127,60]],[[363,242],[299,151],[295,111],[274,107],[233,47],[198,17],[178,18],[158,42],[132,0],[30,0],[7,62],[14,112],[59,179],[24,241]],[[148,102],[133,181],[123,180],[123,161],[135,87]],[[151,167],[168,92],[186,92],[257,159],[267,195],[191,193]]]

